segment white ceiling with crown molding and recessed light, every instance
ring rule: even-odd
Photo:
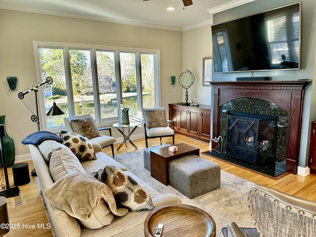
[[[192,1],[183,9],[182,0],[0,0],[0,8],[184,31],[211,24],[210,12],[252,0]]]

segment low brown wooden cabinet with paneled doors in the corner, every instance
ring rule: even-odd
[[[205,142],[210,141],[210,105],[186,106],[182,103],[169,104],[169,119],[174,121],[176,133]]]

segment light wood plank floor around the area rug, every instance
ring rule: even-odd
[[[200,153],[209,150],[208,143],[184,137],[182,135],[176,134],[175,141],[176,143],[187,143],[192,146],[198,147],[200,149]],[[133,142],[139,150],[146,148],[145,139],[138,139],[134,140]],[[172,139],[162,138],[162,144],[167,143],[172,144]],[[149,147],[158,146],[159,144],[160,143],[158,138],[149,140]],[[124,146],[121,147],[119,151],[116,151],[117,147],[118,144],[115,144],[116,155],[126,152]],[[134,151],[133,146],[129,146],[128,152],[132,151]],[[103,152],[109,156],[112,156],[110,147],[103,149]],[[306,177],[303,177],[300,175],[288,174],[278,180],[274,180],[245,170],[243,168],[236,167],[215,158],[204,156],[202,154],[200,156],[215,163],[218,163],[221,166],[222,170],[237,175],[241,178],[247,179],[253,183],[264,184],[282,192],[295,195],[297,197],[303,197],[316,201],[316,175],[308,175]],[[34,169],[34,165],[32,160],[29,160],[28,163],[29,170],[31,172],[31,170]],[[13,185],[11,168],[8,168],[8,176],[10,185]],[[3,181],[2,184],[5,185],[5,181]],[[31,176],[31,182],[29,184],[19,186],[19,188],[20,196],[7,198],[9,221],[12,227],[15,227],[16,229],[11,229],[9,233],[5,236],[52,237],[51,231],[49,229],[42,228],[46,227],[48,221],[34,177]],[[13,207],[13,204],[15,204],[15,207]],[[42,226],[38,226],[41,224]]]

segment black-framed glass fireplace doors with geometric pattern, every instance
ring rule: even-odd
[[[275,165],[278,117],[227,111],[226,155],[254,165]]]

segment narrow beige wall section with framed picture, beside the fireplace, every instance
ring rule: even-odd
[[[195,82],[188,89],[189,102],[211,105],[211,86],[202,86],[203,58],[212,57],[211,26],[183,32],[183,71],[190,70]],[[185,90],[183,90],[183,101]]]

